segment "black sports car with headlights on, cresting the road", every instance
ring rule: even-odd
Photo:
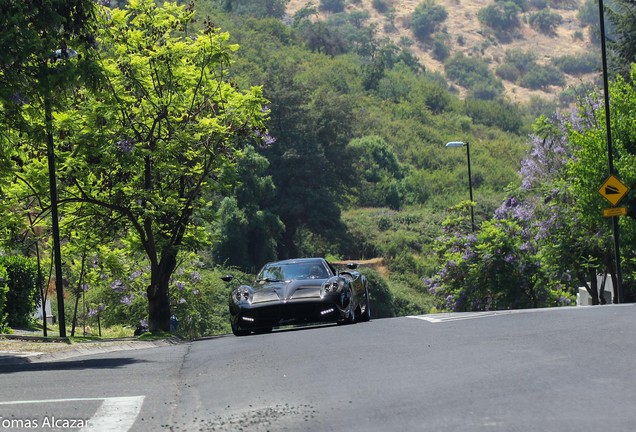
[[[285,325],[369,321],[367,278],[356,268],[347,264],[336,271],[322,258],[265,264],[252,285],[240,285],[230,294],[232,332],[245,336]]]

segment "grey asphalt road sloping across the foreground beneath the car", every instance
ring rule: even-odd
[[[431,315],[4,366],[0,431],[632,431],[635,330],[634,305]]]

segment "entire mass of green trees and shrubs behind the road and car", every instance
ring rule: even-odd
[[[77,17],[86,27],[55,33],[12,2],[12,19],[39,33],[3,36],[17,41],[0,63],[3,330],[29,325],[42,301],[57,311],[51,148],[75,335],[227,333],[232,287],[221,276],[248,280],[289,257],[360,261],[374,318],[571,305],[594,275],[615,275],[598,194],[607,177],[600,92],[573,88],[560,107],[504,93],[503,80],[562,85],[563,74],[598,67],[592,58],[539,65],[510,50],[493,73],[478,57],[441,55],[442,76],[408,44],[375,38],[364,15],[340,10],[347,2],[283,19],[285,3],[91,1]],[[520,3],[497,3],[480,19],[499,34],[517,25],[529,7]],[[413,37],[448,43],[415,33],[427,20],[443,33],[445,16],[423,3]],[[534,16],[543,31],[559,25]],[[612,53],[632,63],[633,23],[622,16],[613,16],[623,37]],[[633,79],[613,70],[610,94],[617,173],[632,189]],[[470,143],[474,202],[466,152],[449,141]],[[630,217],[619,224],[633,301],[635,227]]]

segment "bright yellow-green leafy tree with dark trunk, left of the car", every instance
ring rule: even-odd
[[[150,264],[149,328],[167,331],[177,255],[205,241],[193,218],[242,148],[265,136],[266,100],[225,79],[237,46],[212,26],[188,34],[190,9],[136,0],[104,18],[108,85],[78,93],[75,109],[56,116],[61,176],[73,184],[61,203],[91,204],[132,230]]]

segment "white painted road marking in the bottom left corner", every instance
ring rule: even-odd
[[[0,402],[1,405],[25,405],[39,403],[103,401],[95,414],[88,420],[88,426],[80,432],[128,432],[135,423],[145,396],[123,396],[110,398],[66,398],[37,399]]]

